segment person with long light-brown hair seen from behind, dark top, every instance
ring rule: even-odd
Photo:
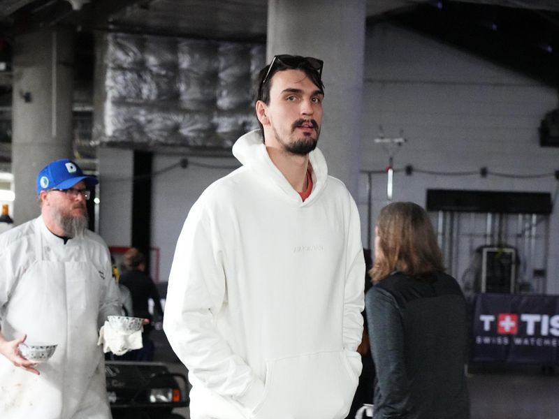
[[[444,273],[428,214],[384,207],[375,228],[373,286],[365,297],[377,369],[375,419],[467,419],[467,304]]]

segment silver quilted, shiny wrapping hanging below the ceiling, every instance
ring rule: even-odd
[[[99,144],[228,149],[256,128],[264,45],[117,33],[100,42]]]

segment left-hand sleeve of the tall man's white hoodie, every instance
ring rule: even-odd
[[[220,242],[198,201],[177,241],[164,330],[190,374],[209,390],[252,409],[263,397],[264,384],[233,353],[215,325],[215,314],[222,307],[226,292]]]

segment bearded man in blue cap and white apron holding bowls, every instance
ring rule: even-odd
[[[97,340],[120,311],[107,245],[87,229],[97,183],[52,161],[37,176],[41,215],[0,235],[0,418],[110,418]],[[36,365],[23,342],[57,348]]]

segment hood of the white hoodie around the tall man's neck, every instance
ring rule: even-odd
[[[312,192],[303,202],[299,193],[287,182],[283,173],[275,166],[266,151],[262,134],[259,129],[242,135],[233,145],[233,156],[240,161],[242,166],[259,173],[266,184],[279,188],[282,194],[300,206],[310,205],[324,190],[328,179],[328,166],[324,154],[316,148],[309,154],[312,167]]]

